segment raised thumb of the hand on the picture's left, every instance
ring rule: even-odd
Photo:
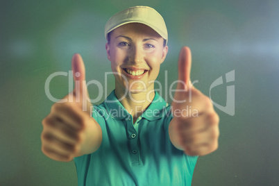
[[[88,106],[91,105],[91,103],[88,103],[89,94],[85,81],[85,65],[83,62],[83,58],[81,58],[81,55],[79,53],[75,53],[73,58],[71,59],[71,69],[73,71],[75,82],[73,94],[76,97],[76,102],[83,103],[83,110],[85,110],[88,108]]]

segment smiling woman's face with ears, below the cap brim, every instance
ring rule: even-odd
[[[157,32],[144,24],[125,24],[110,33],[110,43],[105,44],[105,49],[117,91],[135,94],[154,89],[168,51],[163,42]]]

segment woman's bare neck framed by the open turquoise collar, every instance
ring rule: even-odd
[[[115,88],[115,95],[119,99],[124,108],[133,116],[133,121],[137,120],[140,115],[149,107],[155,96],[155,90],[144,92],[127,92],[127,90],[121,90]]]

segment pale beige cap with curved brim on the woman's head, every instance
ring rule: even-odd
[[[108,40],[108,33],[115,28],[129,23],[141,23],[151,27],[166,40],[167,44],[167,26],[164,19],[149,6],[133,6],[110,17],[105,24],[105,39]]]

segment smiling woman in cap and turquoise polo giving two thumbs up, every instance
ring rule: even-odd
[[[83,59],[75,54],[76,88],[65,97],[71,101],[58,101],[44,119],[42,151],[53,160],[74,158],[78,185],[191,185],[197,155],[217,149],[219,117],[190,83],[189,48],[180,51],[169,105],[154,90],[168,52],[162,16],[146,6],[128,8],[108,20],[105,37],[115,90],[93,106]],[[195,117],[187,108],[197,110]]]

